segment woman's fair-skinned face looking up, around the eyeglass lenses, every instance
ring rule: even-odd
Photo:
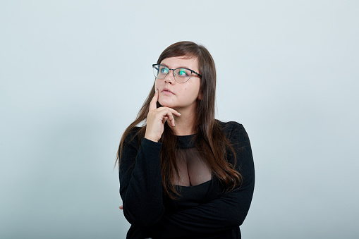
[[[171,69],[188,68],[200,73],[197,58],[171,57],[164,59],[161,64]],[[184,109],[194,111],[196,99],[200,99],[200,77],[195,73],[192,73],[187,82],[178,83],[174,78],[173,71],[170,70],[164,79],[156,79],[155,87],[159,90],[159,104],[179,111]]]

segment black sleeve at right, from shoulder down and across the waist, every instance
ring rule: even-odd
[[[233,122],[230,141],[236,152],[236,170],[243,177],[241,187],[200,206],[172,214],[165,213],[157,224],[157,238],[189,238],[206,233],[221,233],[243,223],[250,208],[255,185],[252,150],[243,125]],[[233,155],[229,154],[229,157],[234,161]]]

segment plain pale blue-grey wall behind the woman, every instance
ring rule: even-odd
[[[125,238],[113,170],[191,40],[255,158],[243,238],[358,238],[359,1],[0,1],[0,238]]]

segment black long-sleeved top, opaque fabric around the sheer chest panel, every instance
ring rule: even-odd
[[[161,142],[126,137],[119,171],[123,214],[131,224],[127,238],[241,238],[239,226],[248,213],[255,184],[252,149],[243,125],[218,121],[236,152],[241,187],[223,192],[213,176],[205,197],[195,207],[178,207],[162,191]],[[227,152],[228,160],[234,157]]]

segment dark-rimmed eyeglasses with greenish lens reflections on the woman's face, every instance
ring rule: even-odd
[[[153,64],[152,68],[153,68],[154,77],[157,79],[165,78],[169,74],[169,70],[172,70],[174,72],[174,78],[178,83],[184,83],[190,80],[190,76],[192,75],[192,73],[195,73],[199,77],[202,77],[202,75],[188,68],[170,69],[161,64]]]

